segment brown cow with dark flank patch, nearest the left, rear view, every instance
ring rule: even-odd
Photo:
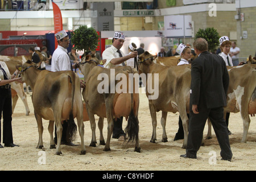
[[[50,148],[55,148],[53,140],[53,123],[55,121],[57,129],[57,155],[61,154],[61,122],[68,119],[69,126],[74,126],[75,122],[73,118],[77,118],[81,137],[81,154],[85,154],[84,123],[82,121],[83,107],[79,76],[72,71],[40,71],[36,69],[36,64],[30,60],[22,66],[17,66],[17,69],[22,72],[22,81],[30,85],[32,89],[32,103],[39,133],[39,142],[36,148],[43,147],[42,118],[49,120]],[[68,131],[73,133],[73,129],[74,127]]]

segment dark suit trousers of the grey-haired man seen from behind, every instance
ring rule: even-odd
[[[223,111],[223,107],[212,109],[201,107],[199,108],[199,114],[194,114],[193,111],[190,111],[188,144],[186,149],[188,156],[196,156],[203,139],[204,126],[207,118],[209,117],[218,139],[218,143],[220,144],[221,157],[226,160],[232,159],[233,155],[229,143],[228,127],[224,120]]]

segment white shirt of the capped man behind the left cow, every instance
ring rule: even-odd
[[[52,54],[52,72],[71,71],[68,50],[58,45]]]

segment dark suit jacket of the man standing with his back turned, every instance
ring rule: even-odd
[[[191,64],[190,104],[208,109],[226,106],[229,75],[221,56],[205,51]]]

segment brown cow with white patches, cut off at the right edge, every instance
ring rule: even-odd
[[[243,120],[243,138],[246,142],[250,125],[249,114],[256,114],[256,65],[245,64],[228,68],[228,105],[224,111],[238,113]]]

